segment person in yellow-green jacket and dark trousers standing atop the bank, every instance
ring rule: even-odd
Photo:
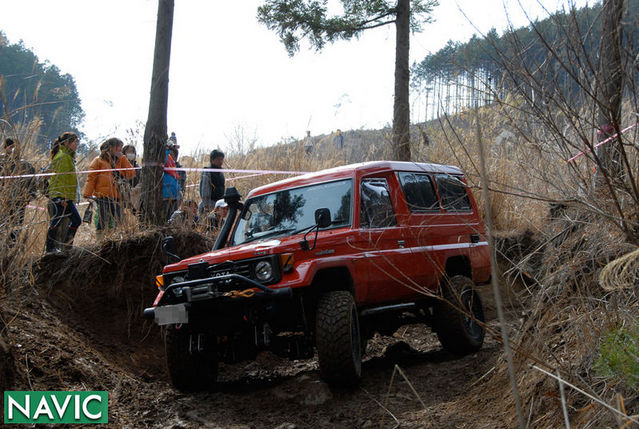
[[[47,253],[60,252],[60,245],[71,247],[73,238],[82,224],[82,218],[75,207],[78,200],[78,176],[75,169],[75,151],[80,139],[77,134],[65,132],[51,144],[51,172],[49,179],[49,214],[51,222],[47,231],[45,249]],[[58,238],[58,228],[62,219],[68,218],[65,231],[60,231],[62,243]]]

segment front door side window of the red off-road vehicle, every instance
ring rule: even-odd
[[[387,228],[397,225],[386,179],[362,180],[360,210],[362,228]]]

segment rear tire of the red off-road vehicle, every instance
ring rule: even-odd
[[[444,300],[435,306],[435,331],[444,350],[466,355],[479,350],[484,343],[484,308],[466,276],[454,276],[442,285]],[[463,310],[463,311],[460,311]],[[473,317],[470,317],[472,314]]]

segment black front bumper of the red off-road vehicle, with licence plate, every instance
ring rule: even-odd
[[[228,285],[240,285],[244,290],[228,290]],[[254,289],[258,289],[255,291]],[[246,293],[248,292],[250,293]],[[293,295],[290,287],[273,289],[239,274],[226,274],[218,277],[189,280],[173,283],[164,290],[162,299],[155,307],[145,308],[143,317],[153,319],[158,325],[188,323],[192,303],[238,300],[279,300]],[[182,302],[169,302],[172,300]]]

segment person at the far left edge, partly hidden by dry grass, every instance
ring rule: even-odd
[[[3,149],[4,154],[0,156],[0,176],[35,174],[33,165],[20,159],[20,148],[15,140],[5,139]],[[34,177],[5,179],[0,183],[3,200],[1,218],[10,227],[7,244],[12,247],[20,236],[27,204],[37,196],[37,185]]]

